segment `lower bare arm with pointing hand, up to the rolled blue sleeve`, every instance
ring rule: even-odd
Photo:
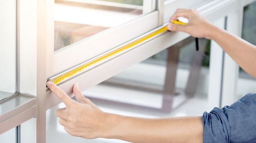
[[[78,103],[52,82],[47,86],[65,103],[55,115],[73,136],[115,138],[134,143],[203,142],[202,116],[171,118],[137,118],[106,113],[85,98],[75,84]]]

